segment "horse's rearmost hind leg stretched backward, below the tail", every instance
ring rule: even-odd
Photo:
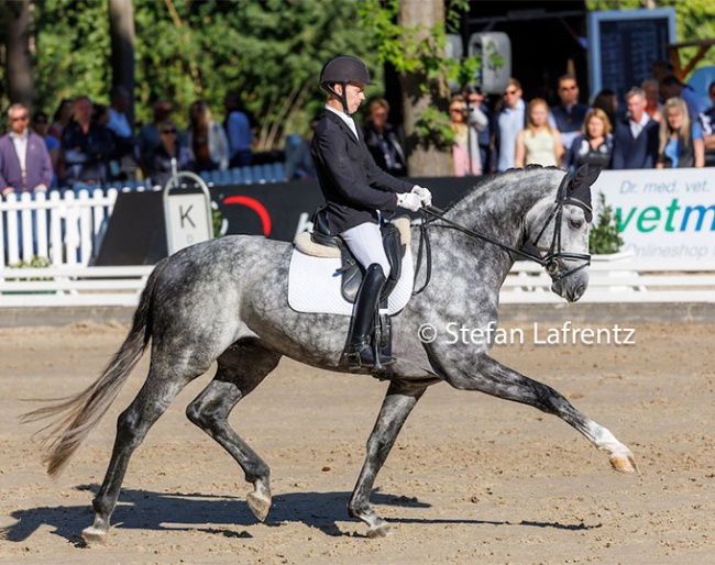
[[[82,531],[87,543],[102,542],[109,531],[109,520],[117,506],[119,491],[127,473],[129,459],[142,443],[146,433],[166,411],[174,397],[206,368],[185,369],[184,377],[167,377],[168,370],[160,370],[154,363],[144,386],[136,398],[117,420],[117,437],[102,486],[92,500],[95,522]]]

